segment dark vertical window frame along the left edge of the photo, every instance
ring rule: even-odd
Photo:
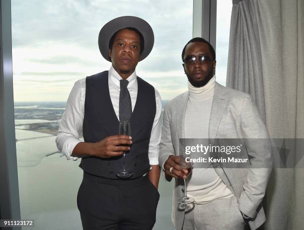
[[[0,219],[20,220],[10,10],[10,0],[0,0]],[[20,227],[8,229],[21,230]]]

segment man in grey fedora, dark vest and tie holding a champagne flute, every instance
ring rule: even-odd
[[[139,17],[106,23],[98,45],[112,65],[77,81],[67,101],[56,143],[68,159],[81,158],[77,207],[84,230],[151,230],[155,223],[161,99],[135,72],[153,42],[151,26]],[[120,123],[131,134],[119,135]]]

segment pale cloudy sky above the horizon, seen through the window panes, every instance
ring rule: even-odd
[[[226,83],[231,0],[218,0],[217,81]],[[230,8],[229,8],[230,7]],[[109,20],[138,16],[154,46],[136,68],[163,100],[187,90],[181,52],[192,38],[192,0],[11,0],[15,102],[66,101],[74,83],[108,70],[97,44]]]

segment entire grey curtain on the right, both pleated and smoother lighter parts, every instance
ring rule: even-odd
[[[272,138],[304,138],[304,0],[233,3],[227,86],[253,96]],[[266,218],[265,230],[304,228],[303,168],[273,170]]]

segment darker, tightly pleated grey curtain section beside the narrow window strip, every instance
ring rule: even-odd
[[[226,85],[250,94],[265,121],[258,3],[256,0],[233,0],[233,3]]]

